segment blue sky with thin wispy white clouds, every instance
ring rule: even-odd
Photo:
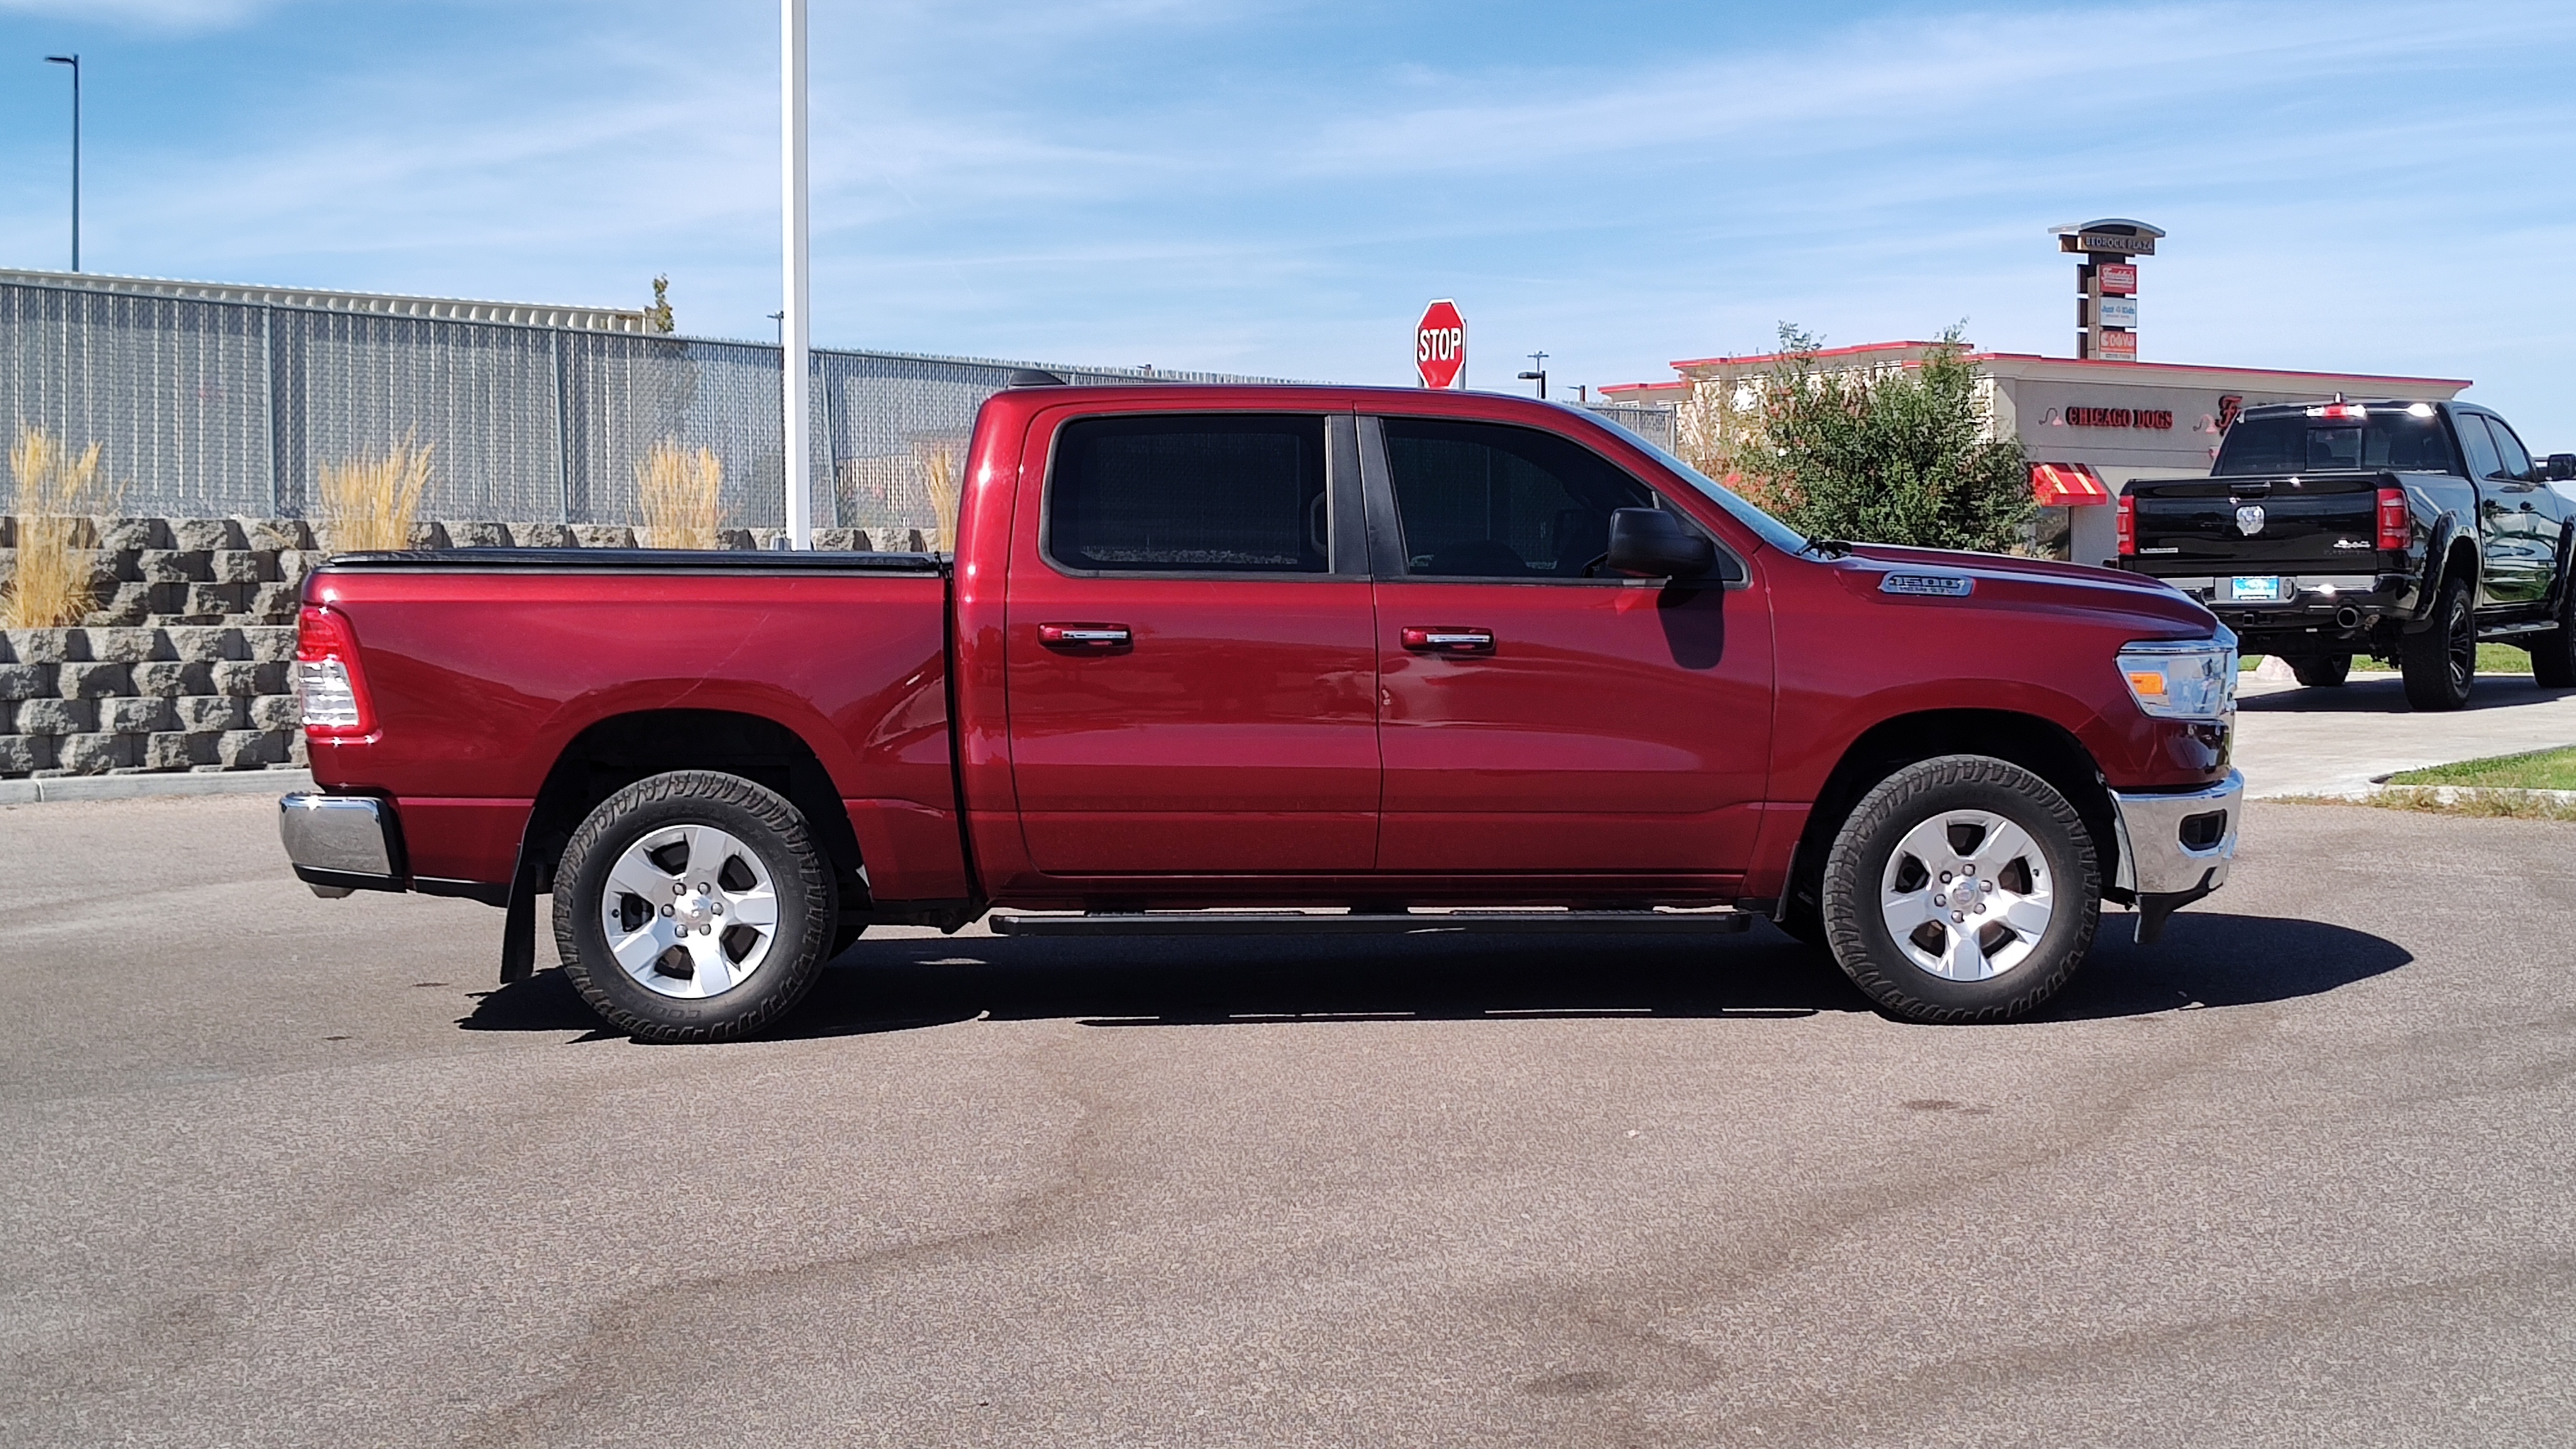
[[[1561,389],[1965,320],[2143,217],[2141,356],[2473,376],[2576,449],[2576,5],[814,0],[822,343]],[[639,304],[765,338],[768,0],[0,0],[0,263]]]

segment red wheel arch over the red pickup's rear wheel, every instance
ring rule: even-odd
[[[858,833],[822,755],[788,724],[737,709],[634,709],[564,743],[520,835],[520,874],[554,890],[564,843],[603,799],[665,771],[721,771],[786,797],[814,830],[845,908],[866,905]]]

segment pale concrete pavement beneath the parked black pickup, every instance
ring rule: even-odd
[[[2360,794],[2375,776],[2576,745],[2576,691],[2530,676],[2478,676],[2468,709],[2416,714],[2393,673],[2342,688],[2239,686],[2236,768],[2246,794]]]

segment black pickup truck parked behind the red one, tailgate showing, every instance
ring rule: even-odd
[[[2246,655],[2344,683],[2352,655],[2396,663],[2416,709],[2460,709],[2478,642],[2576,686],[2576,456],[2535,464],[2468,402],[2246,407],[2210,477],[2120,495],[2120,567],[2200,598]]]

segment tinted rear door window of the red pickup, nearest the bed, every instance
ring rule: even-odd
[[[1324,420],[1082,418],[1056,438],[1046,554],[1087,572],[1332,572]]]

